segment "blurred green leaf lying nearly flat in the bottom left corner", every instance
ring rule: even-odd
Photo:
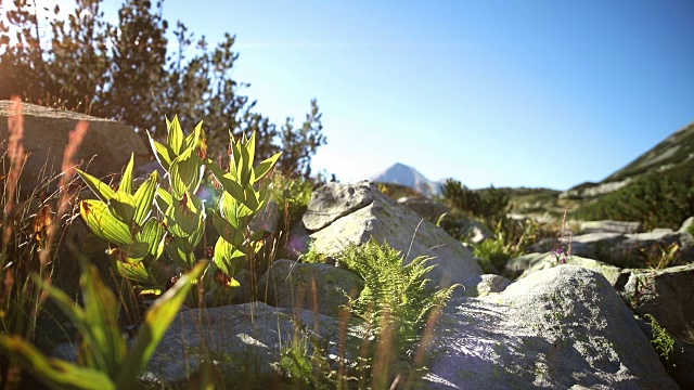
[[[116,385],[104,373],[47,358],[20,336],[0,335],[0,349],[4,355],[18,358],[24,369],[52,389],[116,390]]]

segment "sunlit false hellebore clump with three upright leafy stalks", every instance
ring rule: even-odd
[[[78,170],[98,197],[81,202],[82,219],[95,235],[108,240],[108,253],[118,273],[141,289],[160,292],[167,284],[159,261],[164,253],[183,272],[195,265],[194,251],[204,236],[207,219],[205,200],[196,195],[205,168],[223,190],[218,205],[209,208],[219,234],[210,265],[216,270],[205,273],[221,272],[221,277],[211,280],[228,287],[239,286],[234,276],[259,249],[265,236],[266,232],[252,232],[248,225],[268,203],[270,181],[262,179],[272,171],[281,153],[254,167],[255,133],[250,138],[243,134],[240,140],[230,133],[231,161],[226,171],[206,157],[202,123],[185,136],[177,117],[167,119],[166,143],[147,134],[154,156],[167,172],[168,191],[159,185],[159,176],[154,171],[133,192],[132,156],[117,190]]]

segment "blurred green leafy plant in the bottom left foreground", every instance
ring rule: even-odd
[[[65,292],[44,283],[38,275],[34,277],[79,329],[82,341],[77,364],[47,358],[18,336],[0,335],[0,349],[5,355],[18,356],[26,369],[54,389],[132,388],[207,264],[196,264],[154,301],[129,347],[118,326],[115,295],[101,281],[97,269],[83,257],[78,258],[83,270],[80,278],[83,307],[75,304]]]

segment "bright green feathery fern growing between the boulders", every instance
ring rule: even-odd
[[[360,376],[368,377],[365,370],[372,367],[377,373],[377,384],[373,386],[382,388],[391,379],[389,373],[410,369],[408,356],[427,318],[446,306],[459,285],[434,288],[425,277],[435,266],[426,265],[430,258],[421,256],[406,265],[398,250],[374,238],[362,246],[348,246],[338,258],[365,281],[361,295],[350,298],[349,310],[364,323],[367,334],[375,338],[370,354],[373,358],[367,359]]]

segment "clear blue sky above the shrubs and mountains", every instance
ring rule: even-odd
[[[399,161],[564,190],[694,121],[692,0],[166,0],[164,17],[235,35],[234,76],[275,122],[317,98],[313,171],[343,182]]]

